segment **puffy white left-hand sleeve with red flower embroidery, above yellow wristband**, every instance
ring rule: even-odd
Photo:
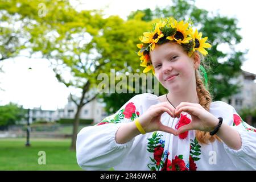
[[[86,170],[109,169],[122,162],[134,139],[124,144],[115,141],[118,128],[139,117],[141,97],[136,95],[115,114],[94,126],[85,127],[77,135],[76,156],[79,166]]]

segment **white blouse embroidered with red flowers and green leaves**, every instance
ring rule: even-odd
[[[117,113],[95,126],[84,127],[77,135],[76,155],[79,166],[86,170],[255,170],[256,130],[243,122],[236,110],[225,102],[210,104],[209,112],[238,131],[240,150],[233,150],[215,140],[201,144],[195,130],[181,139],[162,131],[140,134],[124,144],[115,141],[123,123],[133,122],[151,105],[160,101],[154,94],[143,93],[131,98]],[[188,119],[191,116],[183,113]],[[180,117],[181,118],[181,117]],[[164,125],[175,129],[180,118],[163,113]]]

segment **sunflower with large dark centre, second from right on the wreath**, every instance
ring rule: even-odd
[[[172,28],[176,28],[176,33],[172,36],[167,36],[168,40],[176,40],[178,44],[187,44],[192,38],[188,35],[191,34],[191,28],[188,28],[189,24],[184,23],[183,20],[179,23],[177,20],[174,20],[174,23],[171,23]]]

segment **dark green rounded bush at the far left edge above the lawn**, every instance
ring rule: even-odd
[[[24,118],[26,110],[16,104],[0,106],[0,126],[13,125]]]

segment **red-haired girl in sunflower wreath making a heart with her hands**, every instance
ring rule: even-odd
[[[199,69],[207,38],[190,23],[155,24],[140,37],[143,73],[168,89],[131,98],[117,113],[77,135],[86,170],[255,170],[255,129],[225,102],[212,102]]]

